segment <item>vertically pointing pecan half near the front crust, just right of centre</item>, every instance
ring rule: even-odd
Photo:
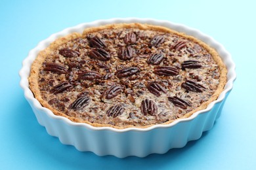
[[[147,114],[153,116],[158,113],[158,107],[156,106],[156,103],[149,99],[142,100],[140,110],[144,114],[144,116],[146,116]]]

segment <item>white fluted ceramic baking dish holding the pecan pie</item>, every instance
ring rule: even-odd
[[[189,118],[175,120],[171,124],[159,124],[147,128],[129,127],[126,129],[94,127],[89,124],[75,123],[68,120],[68,118],[54,115],[51,110],[42,107],[39,101],[35,99],[28,83],[30,67],[33,60],[37,57],[37,54],[49,46],[51,42],[58,37],[64,37],[70,33],[82,33],[83,29],[87,27],[134,22],[169,27],[170,29],[184,32],[187,35],[192,35],[212,48],[215,48],[219,56],[223,59],[228,71],[226,85],[218,99],[210,103],[206,109],[195,112]],[[219,118],[226,97],[228,97],[233,82],[236,79],[236,73],[234,62],[224,47],[213,38],[196,29],[163,20],[114,18],[79,24],[75,27],[70,27],[59,33],[55,33],[48,39],[39,42],[39,44],[30,51],[28,57],[24,59],[23,67],[20,70],[20,77],[20,86],[24,89],[24,95],[28,103],[30,103],[37,121],[41,126],[45,126],[49,135],[58,137],[63,144],[74,145],[75,148],[80,151],[91,151],[98,156],[113,155],[118,158],[124,158],[126,156],[144,157],[154,153],[163,154],[171,148],[181,148],[185,146],[188,141],[199,139],[203,131],[211,129],[215,120]]]

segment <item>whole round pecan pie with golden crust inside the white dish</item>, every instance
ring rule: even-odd
[[[56,39],[33,61],[29,82],[54,114],[122,129],[205,109],[223,91],[226,67],[213,48],[184,33],[112,24]]]

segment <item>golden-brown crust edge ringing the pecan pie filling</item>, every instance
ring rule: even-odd
[[[39,86],[38,86],[39,68],[43,64],[43,61],[45,60],[45,58],[49,54],[51,54],[51,52],[53,52],[53,50],[55,50],[60,44],[64,44],[65,42],[68,42],[72,39],[76,39],[78,37],[83,37],[87,33],[92,33],[92,32],[100,31],[100,30],[103,30],[103,29],[116,29],[116,28],[139,28],[139,29],[144,29],[144,30],[161,31],[161,32],[164,32],[164,33],[175,33],[175,34],[177,34],[181,37],[184,37],[186,39],[189,39],[191,41],[194,41],[194,42],[200,44],[200,46],[207,49],[209,54],[211,54],[211,56],[213,56],[213,59],[219,65],[219,68],[220,68],[220,71],[221,71],[221,75],[220,75],[220,78],[219,78],[219,86],[218,86],[217,90],[215,91],[215,93],[213,93],[213,95],[211,96],[211,98],[208,101],[205,101],[204,103],[202,103],[202,105],[200,107],[192,110],[191,112],[186,113],[182,118],[188,118],[192,114],[194,114],[194,112],[197,112],[198,110],[205,109],[209,105],[209,103],[211,103],[212,101],[215,101],[217,99],[217,97],[219,97],[219,94],[221,92],[223,92],[224,85],[226,84],[226,73],[227,73],[226,67],[225,67],[222,59],[217,54],[217,52],[213,48],[211,48],[210,46],[205,44],[204,42],[199,41],[198,39],[195,39],[192,36],[185,35],[184,33],[178,33],[177,31],[168,29],[166,27],[157,26],[157,25],[148,25],[148,24],[139,24],[139,23],[134,23],[134,24],[110,24],[110,25],[102,25],[102,26],[99,26],[99,27],[89,27],[89,28],[87,28],[83,31],[83,34],[72,33],[72,34],[67,35],[65,37],[60,37],[60,38],[56,39],[56,41],[52,42],[50,44],[50,46],[45,48],[45,50],[39,52],[37,58],[35,58],[35,61],[33,61],[33,63],[32,63],[30,77],[28,79],[29,79],[29,82],[30,82],[30,89],[32,90],[33,94],[35,95],[35,98],[41,103],[41,105],[43,105],[43,107],[46,107],[46,108],[52,110],[53,113],[56,114],[56,115],[64,116],[64,117],[70,119],[72,122],[86,123],[86,124],[90,124],[91,126],[95,126],[95,127],[114,127],[116,129],[124,129],[124,128],[127,128],[127,127],[134,127],[134,126],[119,127],[119,126],[112,126],[110,124],[96,124],[96,123],[91,123],[91,122],[81,120],[79,118],[75,118],[75,117],[72,117],[72,116],[67,116],[66,114],[64,114],[64,113],[54,109],[53,107],[51,107],[51,105],[49,105],[47,103],[47,101],[42,99],[41,93],[39,91]],[[170,121],[165,122],[163,124],[170,124],[173,121],[174,120],[170,120]],[[150,125],[150,126],[153,126],[153,124]],[[140,126],[139,128],[145,128],[145,127],[149,127],[149,126]]]

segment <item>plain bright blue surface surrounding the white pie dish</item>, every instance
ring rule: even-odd
[[[256,169],[253,1],[0,1],[0,169]],[[211,131],[184,148],[146,158],[98,157],[61,144],[39,126],[19,87],[30,49],[82,22],[169,20],[200,29],[232,54],[238,78]],[[241,32],[243,31],[243,32]]]

